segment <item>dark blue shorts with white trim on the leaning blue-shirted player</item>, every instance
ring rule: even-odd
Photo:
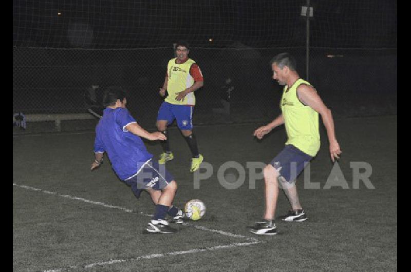
[[[172,174],[165,169],[164,164],[160,166],[157,161],[149,161],[138,174],[124,182],[132,186],[134,195],[139,198],[142,190],[148,188],[162,190],[173,180]]]

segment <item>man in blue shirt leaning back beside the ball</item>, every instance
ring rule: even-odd
[[[177,183],[173,176],[160,167],[153,154],[149,153],[140,137],[151,141],[166,139],[161,132],[147,132],[140,127],[126,109],[125,91],[121,87],[108,87],[104,94],[103,104],[106,107],[96,127],[94,152],[96,160],[91,170],[103,162],[107,153],[113,170],[127,185],[132,187],[134,195],[139,198],[142,190],[148,191],[156,204],[156,212],[148,223],[146,230],[157,233],[176,231],[165,220],[168,213],[176,223],[182,223],[183,212],[173,206]]]

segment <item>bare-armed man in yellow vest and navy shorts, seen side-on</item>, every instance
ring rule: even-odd
[[[335,138],[331,110],[324,105],[316,90],[296,71],[294,58],[288,53],[271,60],[273,79],[285,85],[280,107],[282,113],[271,123],[254,131],[258,139],[273,128],[284,124],[288,136],[285,148],[264,168],[266,210],[264,218],[255,222],[250,231],[257,235],[275,235],[274,213],[278,188],[282,186],[291,204],[291,210],[281,217],[283,221],[302,222],[307,215],[298,200],[295,180],[307,163],[320,149],[319,113],[327,130],[331,161],[342,152]]]

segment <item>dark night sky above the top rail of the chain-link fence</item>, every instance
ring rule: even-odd
[[[303,46],[305,0],[13,1],[13,46],[138,48]],[[313,0],[310,44],[396,48],[397,1]],[[62,14],[59,16],[58,12]],[[213,43],[208,38],[214,39]]]

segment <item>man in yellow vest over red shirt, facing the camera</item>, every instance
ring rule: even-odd
[[[170,150],[169,134],[167,126],[177,120],[177,126],[184,135],[185,141],[190,147],[193,155],[190,171],[194,172],[203,161],[203,156],[198,152],[197,140],[193,133],[193,109],[195,105],[194,91],[201,88],[204,79],[200,67],[189,59],[190,46],[186,42],[176,44],[176,57],[169,61],[163,87],[160,88],[160,95],[168,95],[161,104],[157,115],[157,129],[166,135],[167,140],[163,141],[163,153],[158,160],[159,164],[165,164],[174,158]]]

